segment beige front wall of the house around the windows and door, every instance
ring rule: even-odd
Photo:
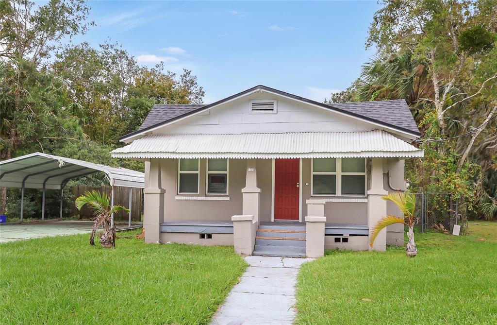
[[[226,220],[230,221],[234,215],[242,214],[242,188],[245,187],[246,159],[229,160],[229,201],[195,201],[195,200],[175,200],[177,194],[177,159],[161,159],[162,166],[162,187],[166,189],[165,196],[165,220]],[[146,163],[146,169],[151,166]],[[369,164],[368,164],[369,166]],[[388,159],[385,166],[385,173],[392,170],[392,185],[405,185],[404,182],[404,160]],[[260,194],[260,216],[259,221],[271,221],[272,204],[272,160],[257,159],[257,186],[261,189]],[[369,170],[368,170],[369,173]],[[206,159],[200,159],[200,187],[199,194],[192,196],[206,195]],[[307,216],[306,200],[311,197],[311,159],[302,159],[302,216]],[[369,175],[368,175],[369,183]],[[307,186],[306,183],[309,183]],[[394,185],[395,184],[395,185]],[[369,187],[369,185],[368,185]],[[384,188],[388,187],[387,175],[384,175]],[[390,189],[390,191],[392,191]],[[182,195],[187,196],[187,195]],[[214,195],[221,196],[221,195]],[[318,197],[321,198],[321,197]],[[344,197],[347,198],[347,197]],[[364,197],[365,198],[365,197]],[[388,213],[398,215],[399,210],[391,203],[387,205]],[[367,223],[367,204],[349,202],[328,202],[325,204],[325,217],[331,223]],[[402,226],[389,226],[387,229],[389,243],[403,243]]]

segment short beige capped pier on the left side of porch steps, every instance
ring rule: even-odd
[[[257,222],[253,215],[241,215],[231,217],[233,221],[233,243],[235,253],[250,256],[255,245],[257,234]]]

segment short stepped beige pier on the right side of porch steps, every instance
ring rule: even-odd
[[[306,200],[306,256],[325,255],[325,204],[324,200]]]

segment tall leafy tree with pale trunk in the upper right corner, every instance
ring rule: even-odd
[[[446,115],[477,96],[495,92],[497,81],[496,0],[385,0],[366,45],[384,54],[409,50],[426,63],[440,135]],[[482,29],[482,26],[486,28]],[[456,86],[457,85],[457,86]],[[463,88],[457,93],[454,88]]]

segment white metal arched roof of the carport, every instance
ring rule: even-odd
[[[62,166],[59,162],[62,162]],[[0,162],[0,186],[60,189],[67,181],[96,172],[103,172],[111,186],[144,188],[145,174],[126,168],[93,164],[83,160],[30,153]]]

